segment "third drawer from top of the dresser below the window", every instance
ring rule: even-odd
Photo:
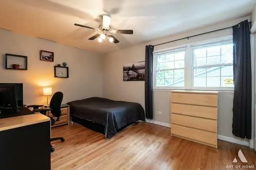
[[[201,130],[217,132],[217,120],[172,114],[172,124],[173,123]]]

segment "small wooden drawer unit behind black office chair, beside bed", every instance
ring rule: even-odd
[[[61,117],[59,117],[59,121],[55,122],[55,124],[52,127],[60,126],[63,124],[69,124],[70,122],[69,105],[61,104],[60,108],[61,108]],[[55,120],[57,119],[51,114],[51,112],[48,112],[47,116],[52,117]]]

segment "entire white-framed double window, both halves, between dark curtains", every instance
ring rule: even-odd
[[[154,52],[154,87],[233,90],[232,38]]]

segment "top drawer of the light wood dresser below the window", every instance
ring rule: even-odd
[[[207,105],[207,106],[218,105],[217,94],[172,92],[171,98],[172,98],[172,102],[177,102],[177,103],[198,104],[198,105]]]

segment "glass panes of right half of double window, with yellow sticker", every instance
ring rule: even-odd
[[[233,44],[196,48],[194,87],[234,87]]]

